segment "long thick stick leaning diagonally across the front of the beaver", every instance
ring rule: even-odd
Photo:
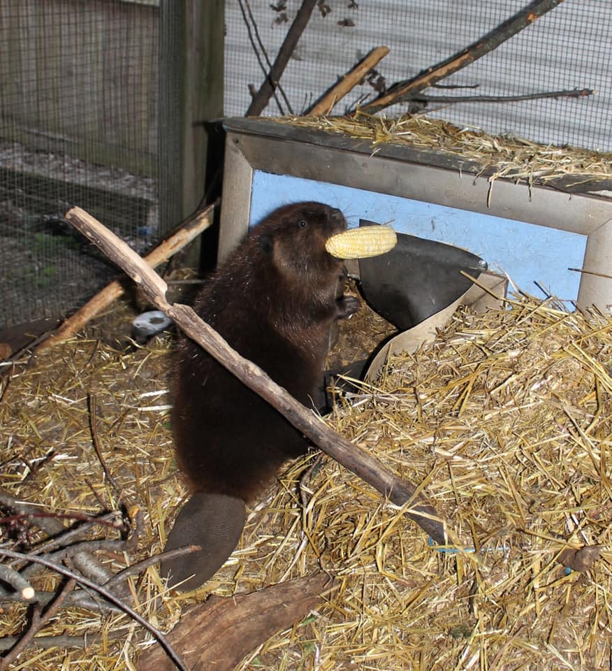
[[[156,308],[165,312],[184,333],[189,335],[189,338],[214,356],[249,389],[275,407],[293,426],[307,435],[314,445],[318,445],[332,459],[371,484],[383,496],[388,497],[391,503],[398,506],[408,504],[407,516],[416,521],[436,543],[448,542],[444,520],[431,505],[422,503],[418,489],[413,484],[398,478],[370,454],[358,449],[329,428],[312,410],[308,410],[283,387],[279,387],[261,368],[240,356],[217,331],[203,322],[194,310],[187,305],[177,303],[170,305],[166,301],[166,282],[123,240],[117,238],[85,210],[72,208],[66,214],[66,219],[117,266],[123,268],[125,273],[140,285],[140,289]],[[419,501],[421,503],[418,503]]]

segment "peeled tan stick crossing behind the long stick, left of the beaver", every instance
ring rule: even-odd
[[[159,243],[150,254],[147,254],[144,261],[152,268],[156,268],[165,261],[168,261],[173,254],[182,250],[182,248],[190,243],[191,240],[197,238],[202,231],[205,231],[211,226],[213,212],[214,205],[208,205],[205,210],[198,212],[194,217],[188,219],[187,223],[181,226],[178,231]],[[81,331],[87,322],[93,319],[96,315],[99,315],[102,310],[108,308],[112,301],[115,301],[116,298],[122,296],[124,291],[125,289],[119,280],[113,280],[110,284],[107,284],[102,291],[99,291],[99,293],[91,300],[87,301],[87,303],[77,310],[74,315],[68,317],[68,319],[59,326],[57,331],[54,331],[48,338],[45,338],[45,340],[43,340],[43,342],[36,348],[37,351],[52,347],[53,345],[57,345],[58,342],[63,342],[64,340],[71,338],[75,333]]]

